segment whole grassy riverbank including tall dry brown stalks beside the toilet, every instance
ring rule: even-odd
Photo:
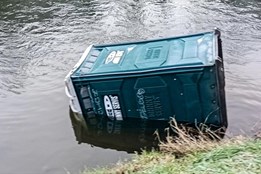
[[[176,125],[174,125],[175,127]],[[160,144],[159,152],[143,152],[130,162],[113,168],[84,171],[83,174],[102,173],[260,173],[261,139],[235,137],[216,139],[201,134],[191,137],[183,128],[175,127],[177,138],[169,137]],[[211,135],[213,135],[211,133]],[[210,138],[211,137],[211,138]]]

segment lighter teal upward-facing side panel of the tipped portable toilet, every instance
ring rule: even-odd
[[[164,67],[212,66],[214,32],[118,45],[96,45],[74,76],[128,71],[154,70]]]

